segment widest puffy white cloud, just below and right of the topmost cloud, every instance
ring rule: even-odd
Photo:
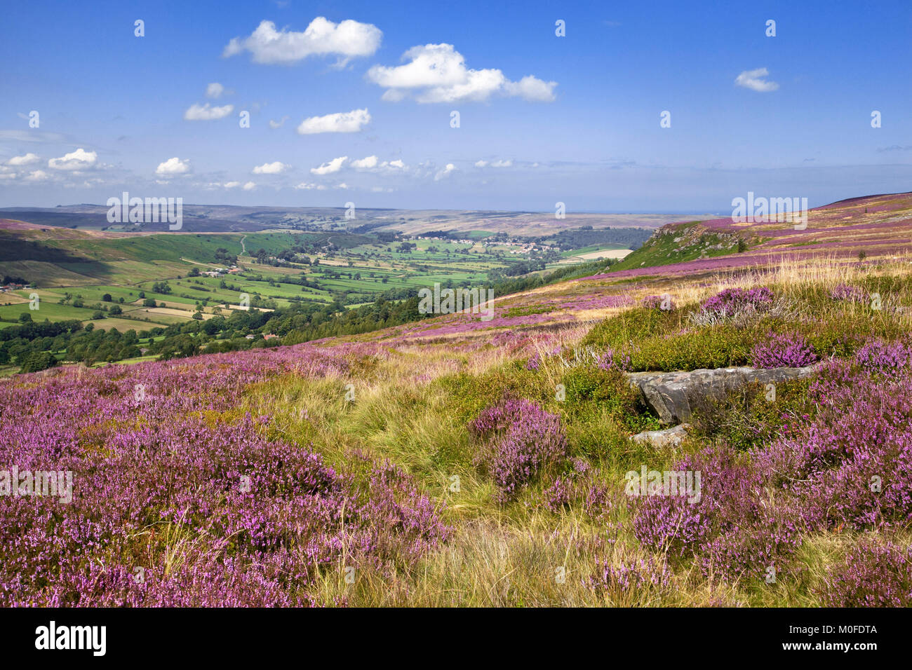
[[[473,70],[449,44],[412,46],[403,54],[405,65],[375,65],[368,70],[370,81],[386,88],[383,99],[398,101],[413,93],[418,102],[482,101],[494,93],[534,102],[554,100],[556,81],[528,75],[511,81],[499,69]]]

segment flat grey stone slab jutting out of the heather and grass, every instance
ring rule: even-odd
[[[643,401],[658,415],[661,423],[670,426],[686,423],[693,417],[693,408],[706,399],[720,400],[731,391],[757,382],[762,386],[811,376],[817,366],[718,367],[714,370],[691,372],[631,372],[630,383],[637,387]]]

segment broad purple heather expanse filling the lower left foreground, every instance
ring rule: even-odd
[[[306,605],[343,557],[417,561],[447,529],[408,478],[380,466],[363,490],[237,412],[251,384],[335,375],[367,352],[301,345],[0,385],[0,469],[73,473],[70,502],[0,496],[0,605]]]

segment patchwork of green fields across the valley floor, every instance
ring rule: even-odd
[[[23,277],[41,297],[36,320],[79,319],[115,304],[122,314],[95,327],[147,329],[217,314],[251,296],[254,306],[281,308],[295,301],[347,306],[370,304],[380,294],[404,296],[433,283],[487,283],[530,256],[484,246],[490,231],[464,233],[471,243],[396,238],[345,231],[92,234],[67,229],[0,231],[0,273]],[[617,245],[602,245],[617,248]],[[599,245],[553,258],[594,251]],[[20,254],[16,256],[16,253]],[[26,254],[23,257],[22,254]],[[191,276],[232,263],[238,273]],[[167,283],[170,292],[156,290]],[[158,285],[157,285],[158,284]],[[141,294],[141,296],[140,296]],[[109,296],[110,302],[103,301]],[[143,304],[154,300],[157,307]],[[394,298],[395,299],[395,298]],[[61,301],[66,304],[59,304]],[[74,306],[81,301],[82,306]],[[0,300],[0,302],[3,302]],[[176,313],[162,312],[179,310]],[[28,304],[0,306],[0,327],[16,323]]]

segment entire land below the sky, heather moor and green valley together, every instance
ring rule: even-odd
[[[912,604],[912,193],[642,243],[301,225],[4,220],[0,448],[72,488],[0,499],[0,603]],[[448,281],[505,290],[411,309]]]

